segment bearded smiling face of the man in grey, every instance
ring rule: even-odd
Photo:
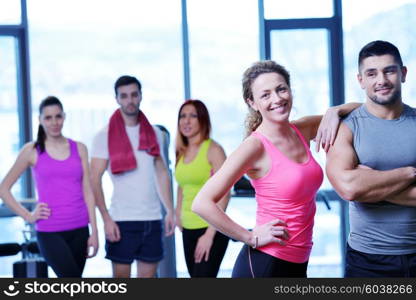
[[[400,67],[392,55],[386,54],[365,58],[357,77],[367,99],[379,105],[392,105],[401,101],[401,84],[406,73],[406,67]]]

